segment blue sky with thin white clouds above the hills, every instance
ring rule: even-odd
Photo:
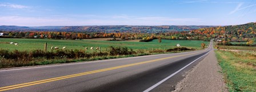
[[[0,0],[0,26],[227,26],[256,22],[255,0]]]

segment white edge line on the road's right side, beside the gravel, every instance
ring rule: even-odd
[[[210,50],[208,53],[210,53],[210,52],[211,52],[211,50]],[[206,53],[206,54],[205,54],[205,55],[203,55],[203,56],[206,56],[208,53]],[[201,56],[201,57],[199,57],[199,58],[202,58],[203,56]],[[168,80],[169,78],[173,77],[175,74],[177,74],[177,73],[181,72],[181,70],[185,69],[187,66],[191,65],[193,62],[195,62],[195,61],[199,60],[199,58],[197,58],[196,60],[194,60],[194,61],[190,62],[189,64],[187,64],[187,65],[186,65],[186,66],[184,66],[183,68],[179,69],[177,72],[175,72],[175,73],[171,74],[170,76],[166,77],[166,78],[165,78],[165,79],[163,79],[162,81],[159,81],[158,83],[156,83],[155,85],[153,85],[153,86],[149,87],[148,89],[146,89],[146,90],[145,90],[145,91],[143,91],[143,92],[148,92],[148,91],[150,91],[150,90],[154,89],[155,87],[157,87],[157,86],[158,86],[158,85],[160,85],[161,83],[163,83],[163,82],[165,82],[166,80]]]

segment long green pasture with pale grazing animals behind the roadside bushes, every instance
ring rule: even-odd
[[[18,43],[18,46],[9,44],[10,42]],[[66,49],[85,49],[85,47],[101,47],[105,50],[109,46],[121,46],[131,49],[169,49],[174,48],[176,44],[180,44],[181,47],[201,49],[201,43],[209,44],[208,41],[195,41],[195,40],[162,40],[162,43],[158,43],[158,40],[150,42],[137,42],[137,41],[104,41],[104,40],[56,40],[56,39],[0,39],[0,48],[9,49],[13,51],[17,49],[19,51],[31,51],[35,49],[44,49],[44,45],[47,43],[47,51],[51,50],[51,47],[66,47]]]

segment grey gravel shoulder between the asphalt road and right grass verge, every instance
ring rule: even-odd
[[[228,91],[214,51],[211,51],[175,87],[180,91]]]

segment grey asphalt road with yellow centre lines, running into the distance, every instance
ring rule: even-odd
[[[210,50],[0,70],[0,91],[154,91]]]

